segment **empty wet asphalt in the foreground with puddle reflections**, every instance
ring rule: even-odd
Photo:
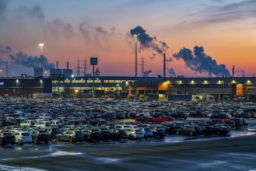
[[[227,136],[14,145],[0,148],[0,167],[15,170],[254,170],[256,125]],[[9,168],[8,168],[9,167]],[[21,169],[23,168],[23,169]]]

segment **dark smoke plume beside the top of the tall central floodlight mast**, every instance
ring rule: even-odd
[[[167,43],[158,41],[156,37],[150,37],[149,34],[146,33],[146,30],[142,28],[142,26],[136,26],[134,29],[130,30],[130,34],[132,36],[139,34],[138,40],[142,49],[148,48],[156,51],[158,54],[163,54],[163,52],[167,51],[169,48]],[[156,55],[153,55],[153,57],[155,56]]]

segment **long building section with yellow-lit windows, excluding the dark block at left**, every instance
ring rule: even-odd
[[[87,76],[55,79],[54,93],[72,89],[73,93],[92,97],[115,94],[121,99],[128,95],[148,96],[149,99],[186,99],[191,95],[212,95],[216,101],[256,101],[256,77],[125,77]],[[67,88],[68,87],[68,88]]]

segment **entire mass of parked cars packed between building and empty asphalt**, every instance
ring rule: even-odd
[[[20,145],[47,144],[51,140],[74,142],[163,138],[166,134],[228,134],[231,127],[246,126],[246,119],[228,119],[238,109],[242,111],[243,106],[104,99],[2,99],[0,132],[6,139],[13,135],[14,143]],[[212,123],[191,122],[187,117],[191,117],[194,110],[204,110],[211,120],[219,119]],[[215,115],[213,111],[220,112]],[[224,116],[223,113],[228,117],[216,117]],[[124,123],[121,121],[124,119],[133,120]],[[175,121],[177,119],[180,121]],[[27,134],[31,138],[24,138]],[[1,138],[1,145],[7,143],[5,138]]]

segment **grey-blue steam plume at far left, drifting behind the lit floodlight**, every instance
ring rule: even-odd
[[[7,55],[12,63],[24,65],[28,68],[40,68],[41,56],[31,56],[26,53],[19,51],[17,54],[12,54],[12,47],[0,46],[0,57]],[[54,64],[49,63],[47,58],[42,55],[43,68],[51,69],[54,68]]]

